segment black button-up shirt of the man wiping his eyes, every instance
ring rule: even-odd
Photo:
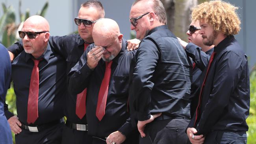
[[[130,124],[130,114],[127,111],[129,68],[136,50],[127,51],[126,42],[122,39],[122,48],[113,59],[111,78],[108,88],[108,99],[105,115],[101,121],[96,117],[98,92],[105,73],[105,61],[102,59],[94,70],[87,66],[87,53],[93,48],[91,44],[80,61],[70,70],[69,90],[78,94],[87,87],[86,116],[88,134],[96,137],[108,137],[114,131],[121,131],[128,136],[134,129]]]

